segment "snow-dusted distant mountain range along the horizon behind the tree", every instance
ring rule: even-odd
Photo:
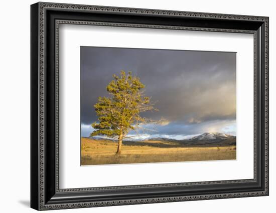
[[[105,140],[112,140],[116,141],[115,139],[108,139],[100,136],[91,136],[90,139],[105,139]],[[125,140],[127,141],[127,140]],[[165,143],[172,143],[178,145],[235,145],[236,144],[236,136],[226,133],[220,132],[205,132],[203,134],[194,136],[190,139],[171,139],[166,137],[151,137],[146,139],[140,140],[128,140],[129,142],[139,141],[139,142],[147,142],[147,141],[161,141]]]

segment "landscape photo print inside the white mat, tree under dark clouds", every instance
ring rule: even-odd
[[[80,47],[81,165],[236,159],[236,52]]]

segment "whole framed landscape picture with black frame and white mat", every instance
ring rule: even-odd
[[[31,5],[31,207],[268,195],[268,17]]]

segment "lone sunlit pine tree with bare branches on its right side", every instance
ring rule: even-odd
[[[120,154],[124,138],[129,138],[127,133],[135,130],[141,124],[158,122],[142,117],[140,112],[157,110],[151,98],[145,96],[145,85],[140,78],[131,72],[120,76],[113,75],[113,80],[106,86],[110,97],[99,97],[94,105],[99,122],[94,122],[95,129],[91,136],[106,135],[118,139],[117,154]]]

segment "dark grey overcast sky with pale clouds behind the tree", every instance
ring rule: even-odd
[[[93,131],[93,105],[120,70],[146,85],[159,111],[143,115],[167,121],[148,136],[189,138],[203,132],[236,135],[236,53],[112,47],[80,48],[81,134]],[[130,132],[132,134],[133,132]]]

